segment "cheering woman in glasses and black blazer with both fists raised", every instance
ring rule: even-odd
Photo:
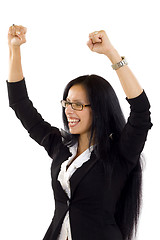
[[[28,98],[20,45],[26,28],[9,29],[8,93],[30,136],[52,158],[55,213],[44,240],[130,240],[141,204],[141,152],[150,121],[144,90],[105,31],[89,35],[88,47],[112,62],[131,106],[125,123],[111,85],[97,75],[78,77],[64,90],[65,131],[45,122]]]

